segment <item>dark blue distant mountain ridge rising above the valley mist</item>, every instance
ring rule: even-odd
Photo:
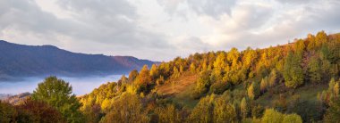
[[[0,40],[0,80],[31,76],[123,74],[154,61],[132,56],[72,53],[53,45],[18,45]]]

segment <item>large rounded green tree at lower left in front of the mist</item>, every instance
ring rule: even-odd
[[[67,122],[81,122],[81,103],[72,94],[72,86],[56,77],[46,78],[39,83],[31,95],[32,100],[47,102],[47,104],[60,111]]]

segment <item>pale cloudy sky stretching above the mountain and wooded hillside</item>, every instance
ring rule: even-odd
[[[0,39],[168,61],[340,32],[339,0],[0,0]]]

